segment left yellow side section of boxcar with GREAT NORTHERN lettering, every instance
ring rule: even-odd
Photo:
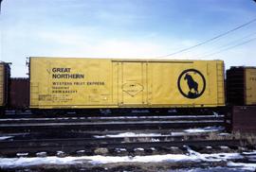
[[[113,104],[110,60],[30,59],[31,108]]]

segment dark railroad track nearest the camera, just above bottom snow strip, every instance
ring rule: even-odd
[[[241,140],[182,140],[172,137],[130,137],[130,138],[65,138],[65,139],[40,139],[40,140],[15,140],[1,141],[1,156],[9,157],[17,154],[34,156],[38,152],[47,152],[48,155],[62,151],[65,154],[87,152],[93,154],[96,148],[125,148],[133,150],[137,147],[143,149],[168,148],[172,146],[241,146]]]

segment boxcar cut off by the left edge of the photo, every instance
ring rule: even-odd
[[[3,114],[9,101],[9,63],[0,62],[0,113]]]

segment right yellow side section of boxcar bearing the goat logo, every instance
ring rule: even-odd
[[[150,63],[150,104],[166,107],[223,106],[223,68],[221,80],[217,73],[218,62],[220,61]],[[217,87],[221,93],[218,93]]]

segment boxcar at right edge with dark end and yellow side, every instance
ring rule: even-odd
[[[256,67],[230,67],[227,70],[227,103],[256,105]]]

